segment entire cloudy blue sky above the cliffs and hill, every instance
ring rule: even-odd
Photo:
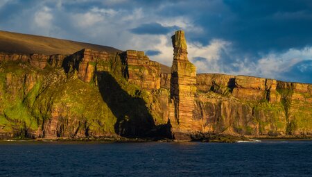
[[[312,83],[310,0],[1,0],[0,30],[145,51],[171,66],[184,30],[198,73]]]

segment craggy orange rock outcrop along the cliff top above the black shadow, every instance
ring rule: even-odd
[[[124,76],[129,83],[142,89],[160,88],[160,67],[150,61],[143,51],[128,50],[122,53],[106,53],[83,49],[67,57],[64,63],[67,72],[76,70],[78,78],[86,83],[93,82],[97,71],[112,71]]]

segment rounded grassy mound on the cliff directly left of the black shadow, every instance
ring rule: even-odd
[[[50,104],[52,103],[51,107]],[[51,115],[54,110],[62,110],[69,117],[78,117],[80,121],[87,121],[94,128],[95,123],[103,125],[103,131],[114,132],[116,117],[112,115],[110,108],[101,99],[101,94],[96,87],[72,78],[55,87],[49,87],[37,98],[34,110],[36,112],[46,112]],[[65,115],[63,115],[65,116]],[[49,119],[44,117],[43,119]],[[97,127],[98,128],[98,127]]]

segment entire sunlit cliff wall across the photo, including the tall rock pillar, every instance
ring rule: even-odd
[[[142,51],[0,53],[0,137],[312,135],[312,85],[196,75],[172,39],[171,73]]]

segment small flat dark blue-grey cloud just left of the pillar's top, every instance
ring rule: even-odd
[[[179,29],[177,26],[162,26],[158,23],[141,24],[137,28],[132,28],[130,31],[140,35],[164,35],[171,31]]]

